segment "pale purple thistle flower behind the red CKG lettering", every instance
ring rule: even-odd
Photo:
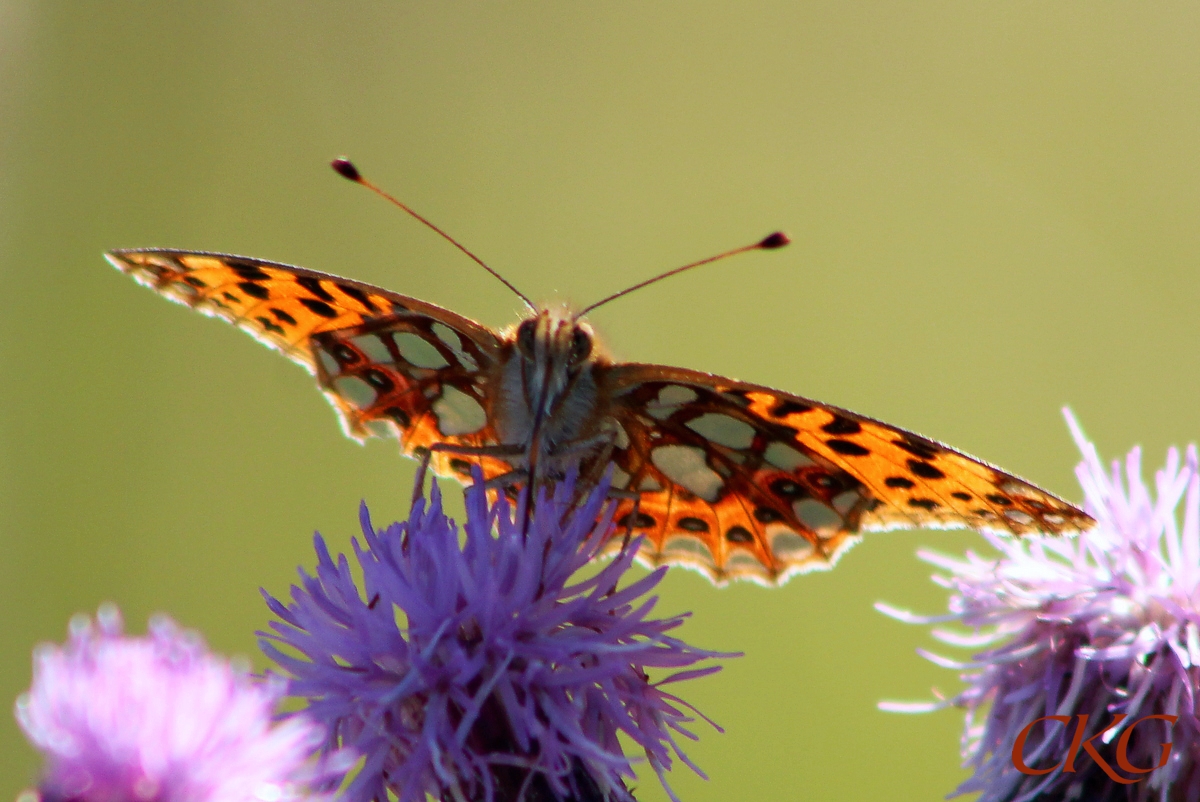
[[[1200,800],[1196,448],[1182,465],[1176,449],[1168,451],[1152,493],[1140,449],[1109,473],[1064,412],[1098,526],[1073,539],[985,534],[998,558],[919,552],[949,574],[935,576],[953,592],[949,615],[876,608],[910,623],[965,624],[973,634],[932,634],[991,648],[971,663],[920,651],[964,670],[966,690],[940,704],[880,707],[966,708],[964,758],[974,773],[955,792],[982,791],[979,802]]]

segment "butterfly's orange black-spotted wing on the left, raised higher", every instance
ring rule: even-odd
[[[218,317],[317,377],[342,427],[362,441],[395,433],[406,454],[434,443],[496,444],[487,383],[500,351],[486,327],[434,304],[288,264],[224,253],[126,250],[107,255],[155,292]],[[434,453],[443,474],[487,478],[491,457]]]

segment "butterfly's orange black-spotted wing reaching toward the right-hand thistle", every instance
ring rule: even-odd
[[[776,585],[830,568],[860,532],[1063,534],[1082,510],[948,445],[770,388],[660,365],[607,376],[620,425],[614,484],[643,558],[715,582]]]

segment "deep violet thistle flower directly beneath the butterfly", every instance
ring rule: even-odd
[[[619,734],[664,786],[673,755],[701,773],[676,741],[695,740],[695,708],[662,687],[733,656],[670,636],[685,616],[649,617],[656,598],[643,597],[662,570],[618,588],[637,541],[572,579],[611,532],[607,481],[576,504],[568,478],[526,516],[523,499],[488,504],[479,479],[461,543],[437,486],[378,531],[364,504],[361,593],[318,534],[316,574],[301,570],[290,604],[266,597],[281,621],[263,650],[329,726],[328,747],[365,755],[347,798],[628,800]],[[652,682],[653,669],[686,670]]]

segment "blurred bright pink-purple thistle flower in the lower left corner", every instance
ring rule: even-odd
[[[17,720],[46,756],[47,802],[328,800],[311,791],[349,766],[312,760],[325,736],[312,722],[272,720],[284,690],[166,617],[146,638],[125,638],[116,608],[104,605],[95,622],[71,622],[65,646],[37,648]]]

